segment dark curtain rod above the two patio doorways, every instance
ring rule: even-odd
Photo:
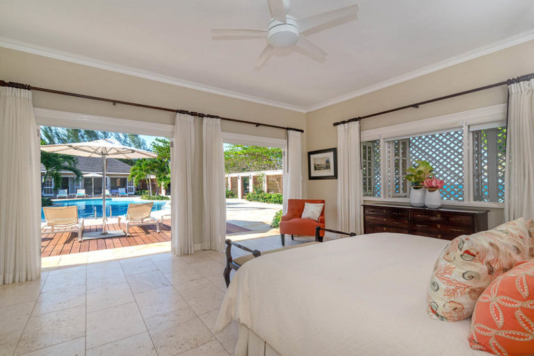
[[[113,103],[113,105],[117,105],[117,104],[130,105],[130,106],[136,106],[138,108],[162,110],[162,111],[168,111],[168,112],[179,112],[180,114],[186,114],[186,115],[191,115],[191,116],[196,116],[196,117],[210,117],[212,119],[221,119],[221,120],[225,120],[225,121],[240,122],[241,124],[251,124],[251,125],[255,125],[256,127],[258,127],[258,126],[266,126],[266,127],[272,127],[272,128],[280,128],[282,130],[288,130],[288,131],[297,131],[299,133],[303,133],[304,132],[304,130],[301,130],[300,128],[284,127],[284,126],[277,126],[277,125],[271,125],[271,124],[261,124],[259,122],[254,122],[254,121],[239,120],[239,119],[232,119],[232,118],[229,118],[229,117],[220,117],[220,116],[217,116],[217,115],[203,114],[202,112],[180,110],[180,109],[162,108],[161,106],[153,106],[153,105],[145,105],[145,104],[140,104],[140,103],[132,103],[130,101],[122,101],[122,100],[101,98],[99,96],[91,96],[91,95],[77,94],[77,93],[71,93],[71,92],[62,92],[60,90],[47,89],[47,88],[44,88],[44,87],[32,87],[31,85],[28,85],[28,84],[21,84],[21,83],[15,83],[15,82],[6,82],[5,80],[0,80],[0,87],[17,87],[19,89],[35,90],[37,92],[47,92],[47,93],[52,93],[52,94],[75,96],[76,98],[92,99],[92,100],[97,100],[97,101],[106,101],[107,103]]]

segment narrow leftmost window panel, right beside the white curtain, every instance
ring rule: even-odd
[[[364,196],[380,196],[380,140],[362,142]]]

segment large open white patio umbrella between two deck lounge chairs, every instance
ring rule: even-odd
[[[122,230],[106,231],[106,161],[108,157],[135,160],[138,158],[156,158],[158,155],[145,150],[124,146],[115,139],[97,139],[91,142],[75,144],[49,144],[41,146],[42,151],[61,153],[63,155],[79,155],[81,157],[102,157],[102,233],[89,232],[83,239],[124,236]]]

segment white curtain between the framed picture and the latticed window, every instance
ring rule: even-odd
[[[359,121],[337,126],[337,229],[362,233]]]

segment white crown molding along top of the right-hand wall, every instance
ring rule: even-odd
[[[423,67],[420,69],[416,69],[414,71],[409,71],[405,74],[402,74],[400,76],[396,76],[394,78],[390,78],[387,80],[384,80],[380,83],[376,83],[373,85],[369,85],[369,87],[364,87],[363,89],[356,90],[354,92],[350,92],[348,94],[343,94],[341,96],[336,96],[335,98],[329,99],[327,101],[323,101],[321,103],[318,103],[316,105],[312,105],[306,108],[306,112],[312,112],[314,110],[318,110],[321,108],[325,108],[330,105],[334,105],[337,103],[341,103],[342,101],[347,101],[350,99],[354,99],[357,96],[362,96],[364,94],[369,94],[371,92],[375,92],[377,90],[383,89],[385,87],[389,87],[391,85],[395,85],[398,83],[405,82],[407,80],[417,78],[419,76],[424,76],[425,74],[432,73],[434,71],[439,71],[440,69],[444,69],[447,67],[452,67],[453,65],[458,65],[462,62],[467,62],[468,60],[472,60],[474,58],[485,56],[489,53],[494,53],[496,51],[501,51],[502,49],[507,49],[508,47],[516,46],[517,44],[521,44],[524,42],[528,42],[534,40],[534,28],[532,30],[528,30],[522,33],[518,33],[517,35],[513,35],[511,37],[505,38],[504,40],[500,40],[498,42],[494,42],[492,44],[487,44],[485,46],[478,47],[476,49],[472,49],[471,51],[467,51],[464,53],[461,53],[458,56],[454,56],[451,58],[448,58],[446,60],[442,60],[440,62],[437,62],[433,65],[429,65],[427,67]]]

